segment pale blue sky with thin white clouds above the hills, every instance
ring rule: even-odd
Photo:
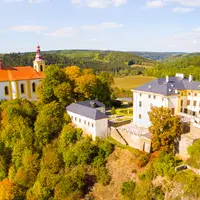
[[[0,52],[200,52],[200,0],[0,0]]]

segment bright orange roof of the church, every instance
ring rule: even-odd
[[[0,69],[0,81],[42,79],[43,76],[43,72],[38,73],[30,66]]]

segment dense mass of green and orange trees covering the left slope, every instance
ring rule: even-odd
[[[92,141],[74,128],[65,106],[75,100],[110,99],[112,78],[78,67],[48,67],[39,101],[16,99],[0,105],[0,199],[81,199],[110,176],[106,140]],[[98,89],[104,88],[104,90]]]

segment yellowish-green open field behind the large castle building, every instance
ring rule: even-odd
[[[149,76],[126,76],[123,78],[115,78],[114,87],[129,90],[150,82],[154,79],[154,77]]]

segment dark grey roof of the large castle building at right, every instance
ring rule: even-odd
[[[176,90],[200,90],[200,82],[181,77],[170,77],[166,82],[165,78],[159,78],[133,90],[169,96],[176,94]]]

